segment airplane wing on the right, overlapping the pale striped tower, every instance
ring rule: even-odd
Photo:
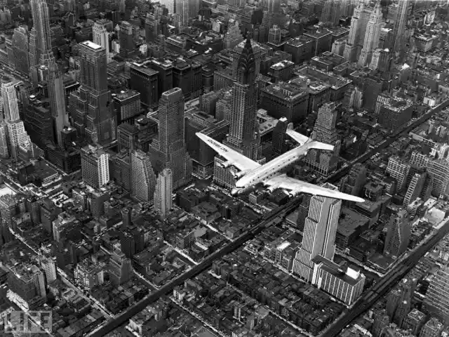
[[[342,199],[356,202],[364,202],[365,200],[351,194],[342,193],[335,190],[330,190],[326,187],[317,186],[311,183],[306,183],[295,178],[289,178],[286,175],[276,176],[264,181],[264,185],[280,188],[290,194],[296,195],[300,193],[321,195],[323,197]]]

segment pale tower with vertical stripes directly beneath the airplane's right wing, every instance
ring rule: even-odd
[[[323,187],[337,190],[329,183]],[[310,198],[309,215],[304,223],[302,246],[293,261],[293,272],[307,282],[312,282],[316,256],[332,261],[335,253],[335,236],[342,201],[314,195]]]

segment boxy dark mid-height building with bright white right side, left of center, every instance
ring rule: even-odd
[[[101,147],[81,149],[81,173],[86,184],[99,188],[109,182],[109,154]]]

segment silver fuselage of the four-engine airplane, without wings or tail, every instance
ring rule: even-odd
[[[308,150],[307,145],[295,147],[293,150],[281,154],[272,161],[246,173],[245,176],[236,181],[236,188],[232,191],[232,194],[242,193],[254,185],[263,183],[264,180],[279,176],[280,171],[302,158]]]

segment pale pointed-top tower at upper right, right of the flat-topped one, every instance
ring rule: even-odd
[[[380,8],[380,1],[377,2],[370,19],[366,25],[366,34],[363,41],[363,48],[361,50],[360,58],[358,58],[358,65],[365,67],[370,65],[373,51],[379,45],[380,29],[382,28],[382,10]]]

